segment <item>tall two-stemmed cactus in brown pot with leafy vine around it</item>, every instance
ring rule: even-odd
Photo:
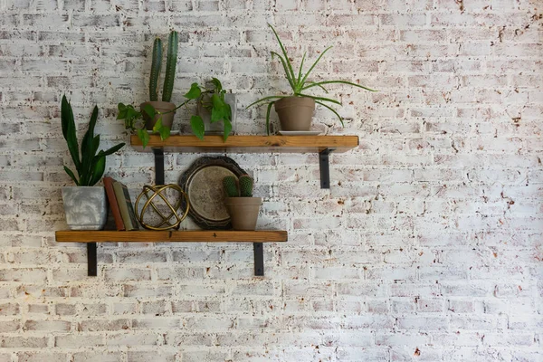
[[[139,105],[136,110],[131,104],[119,103],[119,115],[117,119],[124,119],[125,128],[136,131],[141,139],[143,147],[146,147],[149,140],[148,130],[166,139],[170,135],[170,129],[174,122],[176,107],[171,102],[176,79],[177,44],[179,43],[177,32],[169,33],[167,40],[166,73],[162,89],[162,100],[158,100],[158,78],[162,68],[162,40],[155,38],[153,43],[153,59],[151,62],[151,75],[149,77],[149,101]],[[142,119],[142,120],[141,120]]]

